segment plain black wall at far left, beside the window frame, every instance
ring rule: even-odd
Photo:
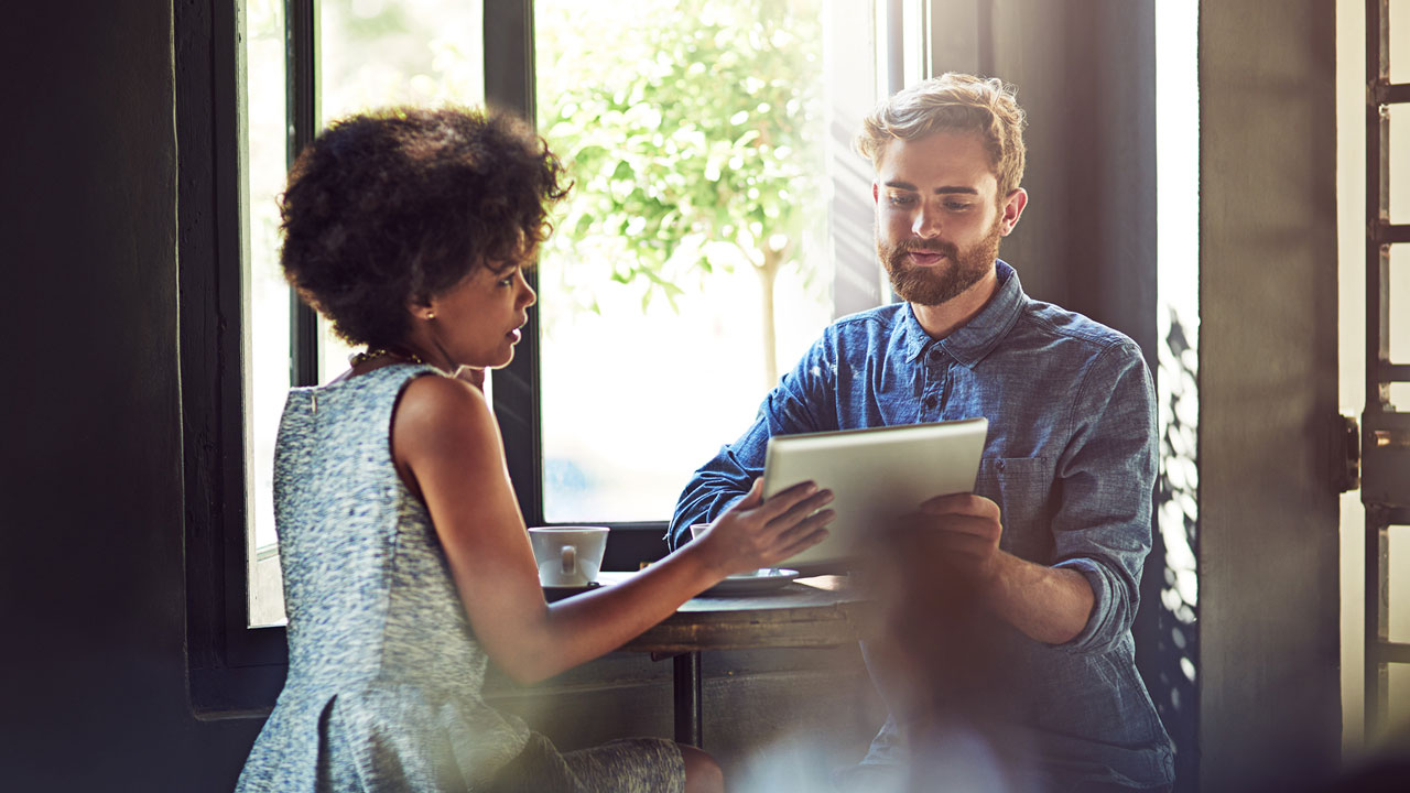
[[[6,790],[230,790],[258,728],[188,707],[171,14],[0,25]]]

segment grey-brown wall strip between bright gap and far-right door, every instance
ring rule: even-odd
[[[1341,749],[1335,3],[1200,3],[1204,790]]]

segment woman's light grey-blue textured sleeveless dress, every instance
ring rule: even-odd
[[[237,793],[681,790],[670,741],[560,753],[485,704],[489,659],[391,454],[402,389],[436,374],[398,364],[289,392],[275,452],[289,676]]]

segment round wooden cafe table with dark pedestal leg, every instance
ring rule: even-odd
[[[611,586],[633,574],[602,571],[598,581]],[[702,652],[856,642],[864,608],[846,576],[798,579],[767,591],[697,597],[620,649],[671,659],[675,741],[701,746]]]

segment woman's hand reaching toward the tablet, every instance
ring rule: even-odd
[[[754,480],[749,495],[691,542],[721,577],[774,567],[828,536],[823,526],[836,516],[823,509],[830,490],[801,483],[764,501],[763,487],[763,480]]]

